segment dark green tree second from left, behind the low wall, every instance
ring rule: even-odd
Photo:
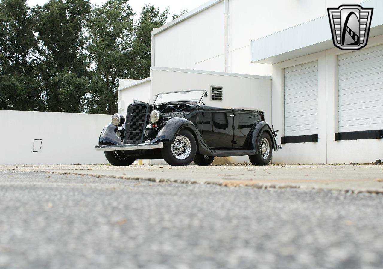
[[[47,111],[84,110],[89,66],[84,26],[90,11],[89,0],[49,0],[32,10],[38,33],[34,58]]]

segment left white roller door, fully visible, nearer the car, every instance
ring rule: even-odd
[[[318,134],[318,61],[285,68],[285,136]]]

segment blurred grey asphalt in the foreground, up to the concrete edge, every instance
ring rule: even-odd
[[[0,172],[0,268],[381,268],[383,195]]]

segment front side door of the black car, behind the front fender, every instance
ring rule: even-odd
[[[203,113],[202,137],[210,148],[230,149],[234,135],[232,110],[209,109]]]

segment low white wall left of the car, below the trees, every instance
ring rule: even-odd
[[[0,164],[108,163],[103,152],[95,151],[95,145],[110,118],[99,114],[0,110]],[[33,152],[33,144],[37,152]]]

